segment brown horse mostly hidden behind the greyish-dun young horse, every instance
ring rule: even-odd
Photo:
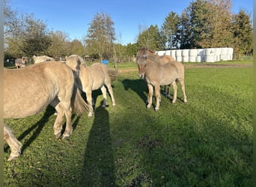
[[[178,61],[175,61],[175,59],[171,55],[159,56],[159,55],[156,55],[156,51],[155,50],[147,48],[147,47],[142,47],[141,49],[138,50],[137,55],[136,55],[136,60],[137,60],[137,58],[139,58],[142,55],[154,55],[156,58],[159,59],[159,63],[160,64],[165,64],[165,63],[171,62],[171,63],[173,63],[177,67],[180,76],[184,75],[184,66],[183,66],[183,64],[181,64]],[[180,77],[180,79],[184,79],[184,76]],[[164,94],[165,94],[165,96],[170,98],[169,86],[170,85],[168,85],[168,87],[167,87],[165,85],[165,88],[164,88],[165,92],[164,92]]]

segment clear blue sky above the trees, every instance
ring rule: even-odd
[[[117,43],[135,43],[139,27],[160,28],[171,11],[180,13],[193,0],[9,0],[19,13],[32,13],[52,31],[63,31],[70,40],[82,40],[96,13],[108,13],[114,22]],[[195,1],[195,0],[194,0]],[[231,0],[232,12],[253,14],[253,0]]]

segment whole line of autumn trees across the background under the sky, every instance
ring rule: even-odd
[[[170,12],[162,25],[138,25],[135,43],[117,42],[115,24],[108,13],[94,15],[82,40],[71,40],[64,31],[49,31],[33,14],[17,13],[4,0],[4,58],[49,55],[55,59],[77,54],[93,61],[132,61],[137,50],[233,47],[234,56],[252,53],[250,13],[231,13],[231,0],[192,1],[183,12]]]

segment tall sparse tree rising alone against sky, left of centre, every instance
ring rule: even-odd
[[[97,54],[100,59],[112,58],[114,54],[114,22],[107,13],[96,13],[85,37],[86,49],[90,54]]]

